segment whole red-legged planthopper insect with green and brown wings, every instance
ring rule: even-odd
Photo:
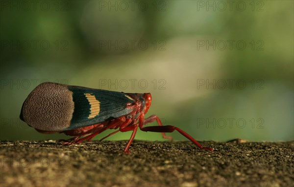
[[[163,138],[171,140],[172,137],[165,133],[177,130],[200,149],[213,151],[210,147],[200,145],[180,128],[162,125],[156,115],[145,118],[150,104],[150,93],[123,93],[47,82],[39,84],[28,95],[20,118],[41,133],[58,132],[74,136],[64,142],[64,145],[91,141],[106,129],[116,131],[101,140],[117,132],[133,131],[123,150],[124,153],[129,153],[128,149],[139,128],[143,131],[161,132]],[[154,121],[158,126],[145,126]]]

